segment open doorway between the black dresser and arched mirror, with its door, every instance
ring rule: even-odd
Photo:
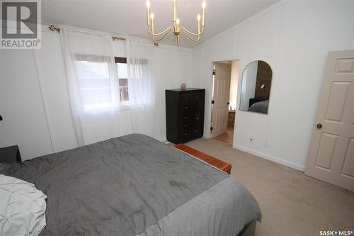
[[[233,144],[239,60],[212,63],[211,137]]]

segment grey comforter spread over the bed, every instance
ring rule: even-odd
[[[0,174],[47,195],[40,235],[236,236],[261,220],[236,179],[146,135],[0,164]]]

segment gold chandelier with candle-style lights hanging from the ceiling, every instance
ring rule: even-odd
[[[154,42],[160,41],[166,37],[173,30],[173,34],[176,35],[177,43],[179,43],[179,36],[180,33],[183,32],[190,40],[193,42],[198,42],[200,39],[200,35],[204,31],[204,18],[205,18],[205,6],[207,4],[205,1],[202,2],[202,17],[201,17],[201,26],[202,30],[200,30],[200,14],[197,16],[197,23],[198,23],[198,32],[192,33],[183,26],[181,26],[181,21],[177,17],[177,3],[176,0],[172,0],[172,12],[173,12],[173,26],[169,26],[166,30],[163,30],[161,33],[155,33],[154,29],[154,13],[150,13],[150,1],[147,0],[147,28],[149,33],[152,35],[152,39]]]

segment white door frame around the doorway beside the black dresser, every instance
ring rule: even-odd
[[[210,62],[210,72],[209,72],[209,88],[210,88],[210,92],[208,94],[205,94],[205,101],[208,103],[208,106],[210,106],[210,108],[207,108],[205,109],[205,112],[206,111],[210,111],[210,114],[207,116],[207,114],[204,114],[204,117],[205,117],[205,128],[207,128],[207,132],[204,132],[205,135],[204,137],[207,138],[207,139],[210,139],[212,138],[212,132],[210,130],[210,127],[212,126],[212,92],[214,90],[214,84],[213,84],[213,81],[212,81],[212,70],[214,69],[214,63],[215,62],[227,62],[227,61],[239,61],[239,77],[237,79],[237,101],[239,101],[239,98],[240,98],[240,72],[242,74],[242,72],[244,71],[243,67],[241,66],[241,60],[240,59],[220,59],[220,60],[212,60]],[[231,82],[231,81],[230,81]],[[239,102],[236,102],[236,109],[235,111],[239,112]],[[235,116],[235,123],[234,123],[234,131],[236,129],[236,116]],[[234,147],[234,139],[232,140],[232,147]]]

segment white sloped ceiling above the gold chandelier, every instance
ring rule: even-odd
[[[172,18],[171,0],[150,0],[155,15],[155,32],[170,26]],[[206,0],[205,31],[199,43],[231,28],[258,11],[275,4],[278,0]],[[197,15],[202,0],[177,0],[181,26],[196,31]],[[90,30],[129,35],[149,39],[145,1],[130,0],[45,0],[42,1],[42,23],[74,26]],[[177,45],[173,33],[161,41]],[[196,43],[181,38],[183,47],[194,47]]]

